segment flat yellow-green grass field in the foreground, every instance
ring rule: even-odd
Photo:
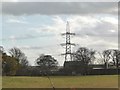
[[[51,76],[55,88],[117,88],[117,75]],[[47,77],[3,77],[3,88],[51,88]]]

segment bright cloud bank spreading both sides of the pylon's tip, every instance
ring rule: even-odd
[[[78,37],[118,37],[118,20],[113,16],[71,15],[66,20],[60,16],[54,16],[52,24],[32,28],[32,30],[37,33],[54,33],[58,37],[58,34],[65,32],[66,21],[70,23],[71,32],[76,33]]]

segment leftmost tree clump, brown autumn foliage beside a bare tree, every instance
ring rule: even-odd
[[[7,55],[4,51],[2,54],[2,74],[3,75],[16,75],[20,69],[25,69],[29,66],[27,56],[19,48],[11,48]]]

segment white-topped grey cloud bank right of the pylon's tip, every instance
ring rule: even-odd
[[[110,20],[106,20],[106,18],[110,18]],[[116,17],[72,16],[69,20],[72,24],[71,29],[77,36],[118,37]]]

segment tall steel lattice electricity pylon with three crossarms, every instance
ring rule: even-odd
[[[65,61],[72,61],[73,53],[71,51],[71,46],[75,44],[71,43],[71,36],[75,35],[75,33],[70,32],[70,26],[68,21],[66,24],[66,33],[63,33],[62,35],[66,38],[66,43],[61,44],[62,46],[65,46],[65,53],[62,55],[65,55]]]

